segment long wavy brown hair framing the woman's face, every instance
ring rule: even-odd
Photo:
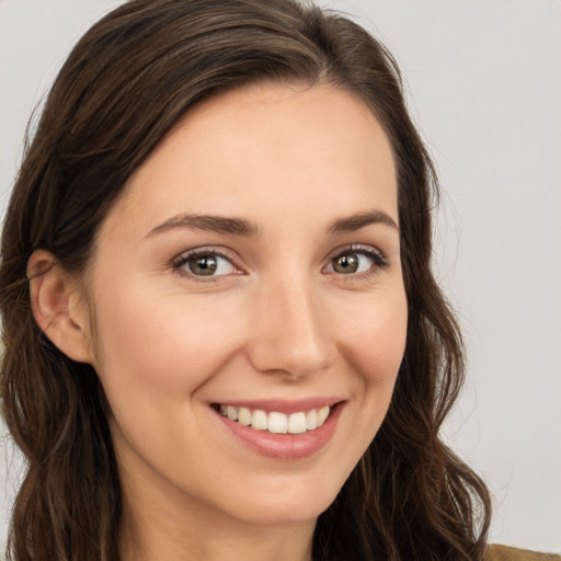
[[[317,561],[482,559],[490,499],[439,439],[463,379],[458,327],[431,271],[437,183],[398,67],[365,30],[294,0],[134,0],[84,35],[26,150],[1,247],[2,413],[27,470],[9,559],[115,561],[122,518],[108,404],[94,369],[34,321],[26,264],[50,251],[83,271],[127,179],[197,102],[256,81],[332,83],[391,141],[409,304],[387,417],[317,525]]]

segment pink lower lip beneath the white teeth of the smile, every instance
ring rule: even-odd
[[[295,460],[313,455],[331,440],[342,410],[343,403],[339,403],[320,427],[301,434],[273,434],[268,431],[257,431],[251,426],[240,425],[215,410],[213,412],[234,437],[257,454],[276,459]]]

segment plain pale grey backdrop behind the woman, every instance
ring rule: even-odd
[[[119,3],[0,0],[2,213],[32,110],[78,37]],[[491,539],[560,552],[561,3],[322,3],[393,53],[439,170],[438,278],[470,365],[444,436],[491,488]],[[0,543],[20,469],[0,437]]]

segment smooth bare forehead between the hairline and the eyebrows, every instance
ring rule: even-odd
[[[398,220],[391,147],[366,104],[327,84],[260,84],[188,112],[130,178],[107,221],[126,211],[156,226],[174,210],[260,222],[301,208],[319,217],[374,206]]]

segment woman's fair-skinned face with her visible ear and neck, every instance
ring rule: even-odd
[[[262,84],[165,137],[102,224],[85,280],[33,279],[37,322],[94,366],[112,408],[125,561],[311,559],[403,356],[399,241],[371,112],[333,87]],[[30,276],[51,262],[36,252]],[[241,424],[240,408],[308,422],[327,405],[306,433]]]

